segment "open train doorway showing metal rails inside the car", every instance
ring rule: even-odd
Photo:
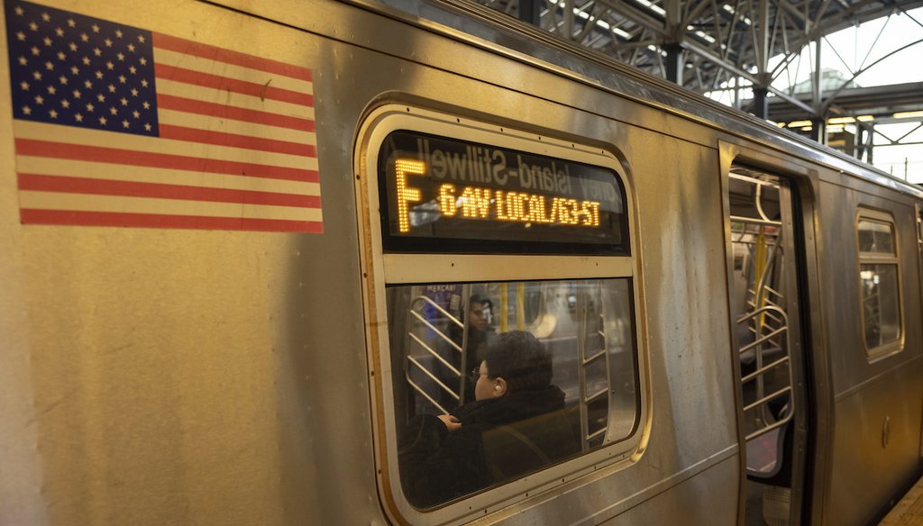
[[[746,458],[744,522],[800,523],[808,422],[798,312],[797,193],[734,164],[728,181],[731,322]]]

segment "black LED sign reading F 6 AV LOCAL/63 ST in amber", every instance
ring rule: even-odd
[[[405,131],[385,139],[378,161],[386,249],[628,251],[610,169]]]

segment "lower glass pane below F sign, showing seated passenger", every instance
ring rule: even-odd
[[[408,501],[431,508],[630,436],[631,298],[629,278],[388,287]]]

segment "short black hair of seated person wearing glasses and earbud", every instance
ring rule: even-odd
[[[487,344],[487,374],[507,381],[509,392],[543,389],[551,385],[551,354],[524,330],[498,334]]]

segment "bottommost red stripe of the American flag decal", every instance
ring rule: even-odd
[[[19,219],[24,224],[324,233],[324,225],[321,221],[210,218],[202,216],[172,216],[166,214],[132,214],[125,212],[20,209]]]

